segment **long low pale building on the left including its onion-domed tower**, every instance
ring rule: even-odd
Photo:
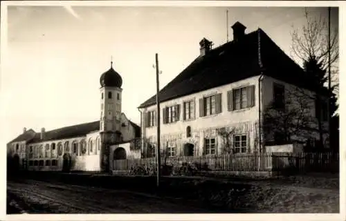
[[[111,64],[100,77],[100,120],[39,133],[24,128],[8,143],[8,155],[42,171],[110,171],[113,160],[140,158],[140,127],[122,113],[121,86]]]

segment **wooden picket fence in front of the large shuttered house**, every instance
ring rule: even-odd
[[[209,171],[338,171],[338,153],[239,153],[162,157],[161,164],[180,168],[183,163]],[[129,171],[135,166],[156,166],[156,159],[114,160],[113,170]]]

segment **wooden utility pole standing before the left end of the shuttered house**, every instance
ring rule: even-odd
[[[160,186],[160,176],[161,176],[161,156],[160,156],[160,102],[158,99],[158,92],[160,90],[158,84],[158,75],[160,71],[158,69],[158,54],[155,55],[156,59],[156,105],[157,105],[157,114],[156,114],[156,124],[157,124],[157,146],[156,146],[156,157],[157,157],[157,187]]]

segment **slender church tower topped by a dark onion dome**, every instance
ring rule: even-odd
[[[112,144],[120,142],[122,78],[111,68],[100,77],[100,170],[109,172],[109,149]]]

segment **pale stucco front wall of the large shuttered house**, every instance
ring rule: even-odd
[[[230,73],[231,74],[231,73]],[[255,123],[258,121],[258,79],[257,77],[251,77],[242,81],[237,81],[233,84],[219,86],[209,90],[202,91],[200,93],[194,93],[177,99],[172,99],[160,104],[161,108],[161,146],[164,146],[167,142],[177,142],[178,151],[181,151],[183,144],[190,142],[194,144],[196,152],[200,155],[203,150],[203,138],[213,137],[216,135],[215,129],[221,127],[235,127],[238,129],[238,133],[248,134],[249,147],[254,148],[255,140]],[[251,108],[244,108],[237,111],[228,111],[227,104],[227,92],[233,88],[239,88],[243,86],[255,86],[255,106]],[[206,117],[199,117],[199,99],[208,95],[221,93],[221,108],[222,111],[219,114],[209,115]],[[195,104],[195,119],[183,120],[183,102],[194,99]],[[170,124],[163,124],[162,122],[162,109],[165,106],[172,106],[174,104],[181,104],[180,120],[179,122],[173,122]],[[148,111],[156,110],[156,106],[149,106],[147,108],[141,108],[142,112],[142,136],[145,139],[152,141],[156,140],[156,126],[146,127],[146,114]],[[187,126],[191,127],[192,137],[186,137],[185,131]],[[221,137],[217,139],[217,148],[220,151]]]

